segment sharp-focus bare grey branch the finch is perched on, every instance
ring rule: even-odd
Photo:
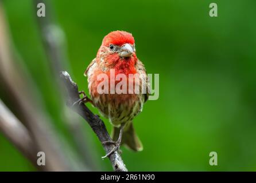
[[[100,118],[96,116],[94,113],[92,113],[91,110],[88,109],[86,105],[82,103],[82,104],[72,106],[72,104],[78,101],[80,97],[78,92],[78,86],[76,85],[75,82],[72,81],[68,72],[61,71],[60,77],[63,80],[65,88],[67,89],[67,93],[68,93],[67,105],[69,106],[69,108],[74,110],[77,114],[82,116],[84,120],[88,122],[92,130],[94,130],[94,133],[96,133],[96,136],[99,138],[100,142],[111,141],[111,137],[108,134],[106,126],[104,125],[103,121],[100,120]],[[114,148],[114,145],[103,145],[103,148],[106,151],[106,153],[108,153]],[[123,163],[122,157],[118,152],[112,153],[108,158],[110,159],[110,162],[115,171],[117,172],[128,171],[126,169],[125,164]]]

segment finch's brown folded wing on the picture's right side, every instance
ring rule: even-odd
[[[142,81],[146,82],[146,87],[147,87],[146,88],[147,93],[145,94],[145,102],[146,102],[151,94],[150,83],[148,82],[148,75],[146,73],[145,66],[139,59],[136,64],[136,68],[137,68],[137,73],[140,75]]]

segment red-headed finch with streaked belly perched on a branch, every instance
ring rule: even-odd
[[[127,85],[130,83],[134,86],[131,93],[127,89],[121,94],[113,94],[110,92],[110,88],[108,88],[107,93],[100,94],[98,92],[98,85],[101,81],[98,81],[97,76],[99,74],[110,76],[111,70],[114,70],[115,75],[124,74],[127,77]],[[139,80],[129,78],[129,74],[137,74]],[[133,35],[120,30],[108,33],[103,38],[96,58],[91,61],[84,71],[84,75],[88,78],[88,90],[91,96],[85,101],[90,101],[100,114],[108,118],[113,125],[111,133],[113,141],[103,142],[103,144],[114,144],[115,148],[104,157],[108,157],[115,150],[119,150],[121,145],[135,152],[143,150],[142,142],[135,133],[133,120],[142,112],[143,104],[150,95],[150,87],[145,66],[136,55]],[[110,78],[108,77],[108,79]],[[146,86],[142,83],[146,83]],[[116,85],[117,81],[115,81]],[[139,93],[134,92],[137,86]],[[143,87],[146,88],[144,93],[141,92]]]

